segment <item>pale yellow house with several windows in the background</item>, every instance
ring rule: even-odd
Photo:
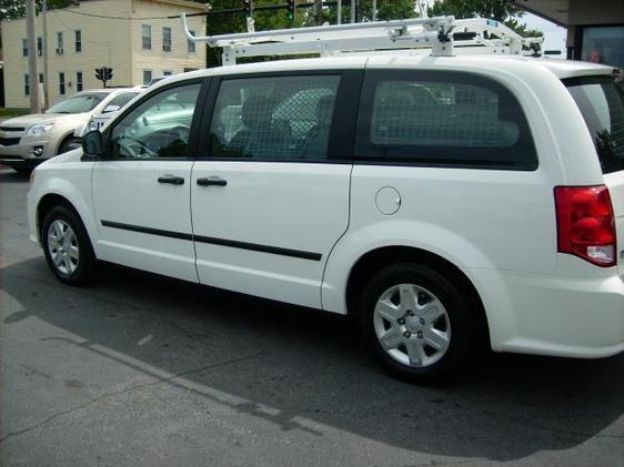
[[[95,68],[112,68],[108,87],[148,83],[152,78],[205,67],[205,45],[192,43],[178,16],[207,7],[185,0],[88,0],[78,7],[48,10],[47,47],[42,14],[37,17],[39,80],[48,51],[48,95],[53,105],[83,89],[102,88]],[[205,16],[189,18],[189,29],[205,33]],[[26,20],[2,23],[7,108],[29,108],[36,87],[28,78]]]

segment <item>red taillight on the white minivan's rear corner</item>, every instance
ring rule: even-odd
[[[560,253],[615,265],[615,216],[605,185],[556,186],[555,207]]]

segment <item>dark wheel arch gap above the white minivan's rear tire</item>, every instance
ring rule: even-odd
[[[476,315],[476,331],[479,333],[479,338],[483,343],[490,345],[490,327],[485,307],[479,291],[470,277],[449,260],[430,251],[414,246],[381,246],[360,256],[351,268],[346,281],[346,313],[349,315],[355,314],[358,296],[360,295],[362,287],[366,284],[368,278],[374,274],[374,272],[392,264],[405,262],[430,266],[433,270],[443,273],[461,290],[462,293],[466,294],[470,298],[471,308]]]

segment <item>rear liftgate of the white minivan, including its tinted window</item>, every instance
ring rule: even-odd
[[[612,77],[563,80],[583,114],[608,186],[617,230],[618,267],[624,275],[624,92]]]

